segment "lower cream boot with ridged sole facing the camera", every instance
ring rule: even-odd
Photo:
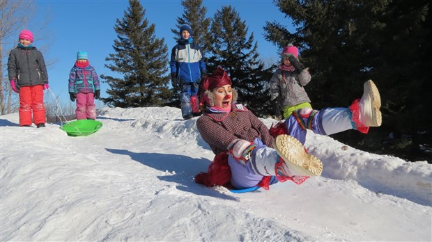
[[[300,141],[293,136],[282,134],[273,141],[273,147],[284,162],[277,168],[283,176],[319,176],[323,172],[323,163],[311,154],[307,154]]]

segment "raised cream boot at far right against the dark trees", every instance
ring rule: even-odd
[[[381,97],[375,83],[369,80],[363,85],[364,91],[359,102],[359,121],[366,127],[381,126]]]

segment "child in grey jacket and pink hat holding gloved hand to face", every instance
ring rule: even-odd
[[[304,86],[311,81],[311,74],[298,61],[298,49],[292,44],[284,47],[281,57],[281,65],[270,79],[270,100],[273,113],[280,116],[282,109],[286,119],[297,109],[312,107],[304,90]]]

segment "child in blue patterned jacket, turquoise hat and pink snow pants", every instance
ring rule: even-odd
[[[95,68],[88,62],[87,52],[79,51],[69,74],[70,101],[77,101],[77,120],[95,120],[95,99],[100,97],[100,84]]]

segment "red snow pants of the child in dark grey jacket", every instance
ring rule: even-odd
[[[33,112],[34,124],[45,124],[45,106],[43,104],[43,85],[23,86],[20,88],[20,126],[31,125]]]

